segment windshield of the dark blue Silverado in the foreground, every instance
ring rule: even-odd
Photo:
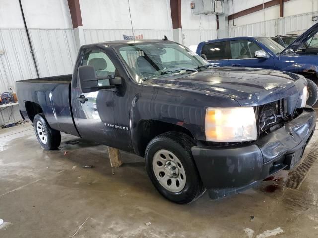
[[[188,48],[174,42],[150,42],[116,48],[135,75],[136,82],[166,74],[181,74],[208,68],[210,63]]]

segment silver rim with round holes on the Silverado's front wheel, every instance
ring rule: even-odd
[[[168,150],[159,150],[153,158],[153,171],[159,181],[169,192],[180,192],[186,183],[184,167],[179,158]]]

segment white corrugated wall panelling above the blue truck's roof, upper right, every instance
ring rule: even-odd
[[[230,27],[230,37],[235,36],[260,36],[273,37],[296,31],[305,31],[317,22],[312,21],[312,16],[318,12],[309,12],[284,18],[262,21],[242,26]]]

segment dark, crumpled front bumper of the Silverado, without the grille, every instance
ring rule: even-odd
[[[303,112],[285,126],[240,146],[192,147],[203,185],[212,199],[240,193],[300,160],[314,133],[316,112]]]

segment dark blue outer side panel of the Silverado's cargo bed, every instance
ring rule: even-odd
[[[79,136],[70,104],[71,80],[72,74],[17,81],[22,115],[30,118],[28,105],[35,103],[41,107],[45,119],[53,129]]]

